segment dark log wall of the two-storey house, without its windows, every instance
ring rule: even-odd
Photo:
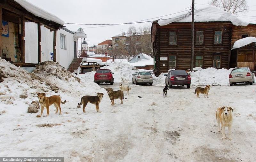
[[[175,69],[190,69],[191,64],[191,23],[174,22],[165,26],[159,26],[153,22],[152,26],[156,26],[153,48],[154,58],[156,60],[155,75],[168,72],[169,56],[176,55]],[[152,27],[153,28],[153,27]],[[214,44],[215,31],[222,31],[222,43]],[[177,45],[169,44],[169,32],[177,32]],[[201,45],[196,44],[196,31],[204,32],[204,42]],[[213,66],[213,56],[220,55],[220,68],[228,68],[228,53],[231,49],[231,31],[232,24],[230,22],[204,22],[195,23],[195,45],[194,45],[194,67],[197,55],[203,56],[203,67]],[[155,43],[156,42],[156,43]],[[156,48],[156,49],[155,49]],[[167,57],[167,60],[160,60],[160,57]]]

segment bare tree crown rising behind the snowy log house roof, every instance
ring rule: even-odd
[[[246,0],[210,0],[209,4],[232,13],[233,15],[249,11],[249,6],[247,5]]]

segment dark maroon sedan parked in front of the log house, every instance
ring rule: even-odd
[[[169,86],[169,88],[172,88],[173,85],[187,85],[187,88],[190,88],[191,77],[186,70],[171,70],[164,76],[166,76],[165,85]]]

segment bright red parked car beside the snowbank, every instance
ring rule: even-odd
[[[111,85],[114,83],[114,73],[111,72],[110,69],[98,69],[94,74],[94,82],[99,83],[110,83]]]

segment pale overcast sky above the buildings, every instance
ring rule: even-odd
[[[153,21],[159,17],[188,10],[192,0],[26,0],[43,10],[56,15],[65,23],[79,24],[117,24],[135,21]],[[251,16],[248,21],[256,22],[255,0],[247,0]],[[208,0],[195,0],[195,4],[208,4]],[[244,17],[244,15],[241,16]],[[143,22],[144,22],[143,21]],[[89,46],[97,45],[111,37],[127,32],[130,26],[136,28],[149,26],[148,23],[124,25],[72,25],[65,24],[71,31],[83,28]]]

